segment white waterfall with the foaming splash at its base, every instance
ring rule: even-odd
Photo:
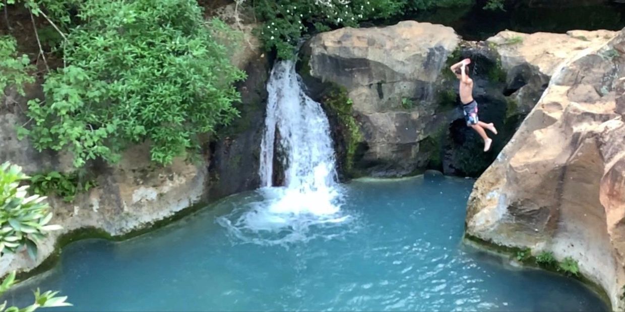
[[[277,62],[267,84],[267,114],[261,142],[261,199],[217,219],[237,239],[274,245],[336,235],[349,220],[341,212],[330,126],[319,103],[301,89],[292,61]],[[279,135],[284,186],[272,187],[274,146]],[[329,229],[327,233],[319,229]],[[314,231],[313,231],[314,230]]]

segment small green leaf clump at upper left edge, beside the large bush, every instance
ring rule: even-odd
[[[14,37],[0,37],[0,90],[4,92],[9,85],[15,85],[17,92],[24,95],[23,84],[34,82],[27,71],[34,67],[30,65],[31,60],[26,54],[17,55],[16,47]]]

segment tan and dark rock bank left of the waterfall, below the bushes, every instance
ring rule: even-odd
[[[213,14],[232,17],[233,8],[221,7]],[[26,251],[2,256],[0,276],[11,270],[32,270],[54,252],[61,235],[74,230],[127,235],[197,203],[257,187],[258,157],[253,151],[260,147],[269,61],[251,35],[254,24],[224,19],[242,34],[232,55],[232,62],[247,72],[247,79],[237,85],[241,92],[239,119],[207,138],[205,152],[196,160],[177,158],[165,167],[154,165],[149,145],[141,144],[126,150],[115,165],[91,163],[88,170],[94,173],[97,187],[78,194],[71,203],[57,197],[48,200],[55,214],[53,223],[62,225],[63,230],[52,232],[39,244],[36,260]],[[16,163],[30,175],[73,171],[69,155],[39,153],[28,140],[17,140],[15,125],[27,122],[27,100],[41,97],[41,85],[27,85],[26,89],[26,97],[12,93],[0,106],[0,163]]]

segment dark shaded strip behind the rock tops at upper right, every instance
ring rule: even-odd
[[[625,4],[606,3],[573,7],[509,7],[506,11],[485,10],[483,4],[466,7],[440,7],[402,16],[452,27],[464,40],[479,41],[509,29],[517,32],[557,32],[573,29],[621,30],[625,27]],[[393,21],[393,22],[398,22]]]

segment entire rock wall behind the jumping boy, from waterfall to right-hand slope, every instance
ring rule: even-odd
[[[398,176],[434,168],[477,177],[534,107],[557,64],[612,35],[504,31],[486,42],[469,42],[450,27],[414,21],[348,27],[313,37],[304,48],[307,66],[301,66],[301,74],[322,104],[327,97],[320,94],[328,88],[344,90],[344,99],[331,99],[332,105],[325,106],[332,117],[336,102],[351,105],[347,113],[361,134],[351,135],[357,142],[351,142],[352,154],[346,156],[352,157],[347,162],[354,171]],[[458,82],[447,69],[464,57],[474,61],[471,76],[480,118],[500,129],[489,153],[482,153],[481,140],[464,124]],[[347,130],[338,127],[354,132],[343,128]],[[341,142],[341,135],[334,139]],[[337,152],[341,155],[341,148]]]

